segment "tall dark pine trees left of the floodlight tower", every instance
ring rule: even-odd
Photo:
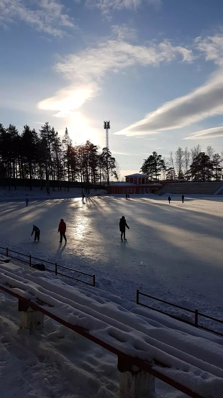
[[[48,122],[38,132],[24,125],[21,134],[14,125],[0,123],[0,178],[13,180],[15,189],[21,178],[29,179],[30,190],[37,179],[41,189],[45,181],[47,192],[50,180],[53,191],[61,189],[61,181],[67,181],[68,190],[69,182],[77,181],[89,192],[90,184],[102,186],[106,181],[106,156],[106,148],[100,150],[90,140],[74,146],[67,129],[61,138]],[[110,177],[117,180],[117,162],[110,151],[108,168]]]

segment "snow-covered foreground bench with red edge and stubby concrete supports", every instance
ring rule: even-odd
[[[222,338],[11,263],[0,263],[0,289],[18,298],[21,327],[42,328],[47,315],[117,355],[121,398],[152,397],[155,378],[192,398],[223,397]]]

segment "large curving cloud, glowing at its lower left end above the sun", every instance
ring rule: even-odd
[[[178,56],[185,62],[191,62],[193,59],[190,50],[184,47],[175,47],[169,41],[158,44],[151,43],[148,47],[132,45],[122,39],[100,42],[96,47],[67,55],[56,64],[55,70],[71,81],[71,89],[61,90],[56,93],[56,96],[41,101],[38,107],[58,110],[57,116],[64,117],[73,109],[72,98],[77,97],[75,91],[81,90],[83,94],[79,101],[80,107],[85,101],[92,99],[100,92],[102,80],[109,71],[117,73],[136,64],[156,66],[160,62],[177,59]],[[67,112],[64,103],[69,104]],[[62,105],[62,110],[59,109],[60,105]],[[77,101],[75,101],[75,109],[77,109],[76,105]]]

